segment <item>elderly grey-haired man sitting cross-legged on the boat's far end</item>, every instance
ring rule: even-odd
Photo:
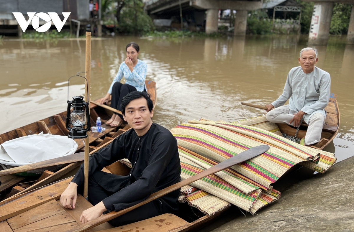
[[[321,139],[326,111],[330,98],[331,77],[315,67],[318,61],[315,48],[304,48],[298,59],[301,66],[292,68],[287,76],[283,94],[272,104],[265,105],[267,120],[299,127],[303,120],[309,126],[305,145],[311,146]],[[284,105],[289,100],[288,105]],[[273,108],[276,108],[270,111]]]

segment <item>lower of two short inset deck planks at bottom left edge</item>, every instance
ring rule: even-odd
[[[13,232],[28,232],[28,231],[38,231],[40,229],[45,229],[52,226],[58,226],[63,224],[68,224],[70,222],[75,222],[75,220],[70,217],[70,215],[64,211],[48,218],[33,222],[31,224],[20,227]]]

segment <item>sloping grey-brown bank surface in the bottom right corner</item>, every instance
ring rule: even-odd
[[[300,181],[281,192],[281,198],[257,211],[258,215],[239,216],[209,231],[353,231],[353,164],[354,157],[345,159],[327,173]]]

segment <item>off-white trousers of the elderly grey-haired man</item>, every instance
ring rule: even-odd
[[[289,114],[289,105],[283,105],[269,111],[266,115],[269,122],[286,123],[293,126],[294,122],[289,123],[294,115]],[[309,126],[305,136],[305,145],[318,143],[321,140],[321,132],[325,124],[325,116],[317,113],[311,116]]]

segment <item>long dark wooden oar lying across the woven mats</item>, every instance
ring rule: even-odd
[[[95,226],[98,226],[106,221],[109,221],[109,220],[112,220],[118,216],[121,216],[133,209],[136,209],[146,203],[149,203],[159,197],[162,197],[164,195],[166,195],[167,193],[170,193],[172,191],[175,191],[185,185],[188,185],[194,181],[197,181],[201,178],[204,178],[205,176],[209,176],[211,174],[214,174],[214,173],[217,173],[217,172],[220,172],[221,170],[224,170],[226,168],[229,168],[229,167],[232,167],[238,163],[242,163],[246,160],[249,160],[253,157],[256,157],[258,155],[261,155],[262,153],[266,152],[267,150],[269,149],[269,146],[268,145],[261,145],[261,146],[256,146],[256,147],[252,147],[246,151],[243,151],[241,153],[239,153],[238,155],[234,156],[234,157],[231,157],[229,159],[226,159],[225,161],[221,162],[221,163],[218,163],[217,165],[211,167],[211,168],[208,168],[206,170],[204,170],[203,172],[200,172],[190,178],[187,178],[181,182],[178,182],[174,185],[171,185],[170,187],[167,187],[167,188],[164,188],[158,192],[155,192],[153,193],[152,195],[150,195],[149,198],[147,198],[145,201],[142,201],[136,205],[133,205],[132,207],[129,207],[129,208],[126,208],[126,209],[123,209],[123,210],[120,210],[118,212],[110,212],[108,214],[105,214],[105,215],[102,215],[100,216],[99,218],[95,219],[95,220],[92,220],[92,221],[89,221],[85,224],[82,224],[76,228],[73,228],[72,230],[69,230],[68,232],[84,232],[86,230],[89,230]]]

